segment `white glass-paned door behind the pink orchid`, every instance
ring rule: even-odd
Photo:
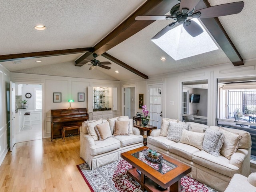
[[[163,116],[163,84],[150,85],[148,91],[150,125],[157,126],[160,129]]]

